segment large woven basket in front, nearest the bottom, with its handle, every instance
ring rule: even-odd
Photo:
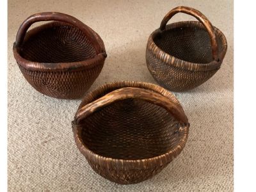
[[[134,184],[161,172],[185,147],[189,123],[179,101],[156,84],[105,84],[81,102],[76,145],[102,177]]]

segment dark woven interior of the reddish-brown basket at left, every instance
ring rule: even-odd
[[[93,45],[84,33],[67,24],[36,28],[26,36],[20,56],[38,63],[69,63],[84,61],[96,55]]]

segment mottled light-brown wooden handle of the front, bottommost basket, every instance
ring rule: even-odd
[[[103,108],[104,106],[108,106],[109,104],[116,102],[118,100],[124,100],[129,98],[137,98],[146,100],[147,102],[151,102],[157,104],[165,108],[169,111],[177,120],[184,124],[188,124],[188,118],[185,115],[184,111],[177,106],[177,104],[173,103],[172,100],[164,97],[163,95],[152,92],[150,90],[145,90],[142,88],[134,88],[134,87],[127,87],[127,88],[120,88],[113,92],[110,92],[103,97],[100,97],[97,100],[83,106],[83,108],[79,109],[75,115],[74,122],[79,124],[79,122],[89,116],[93,112]]]

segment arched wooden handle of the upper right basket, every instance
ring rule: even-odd
[[[203,15],[203,13],[199,12],[198,10],[195,10],[193,8],[189,8],[188,6],[178,6],[174,8],[173,10],[170,10],[165,16],[164,19],[161,22],[160,30],[163,31],[166,28],[167,22],[172,19],[172,17],[176,13],[186,13],[188,15],[192,15],[195,17],[198,21],[200,21],[205,28],[207,29],[207,32],[211,38],[211,45],[212,45],[212,57],[215,61],[218,61],[218,46],[216,42],[216,36],[214,33],[214,28],[212,27],[211,22]]]

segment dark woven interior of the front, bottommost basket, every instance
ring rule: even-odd
[[[114,102],[81,121],[90,150],[115,159],[159,156],[180,141],[179,122],[166,109],[140,99]]]

